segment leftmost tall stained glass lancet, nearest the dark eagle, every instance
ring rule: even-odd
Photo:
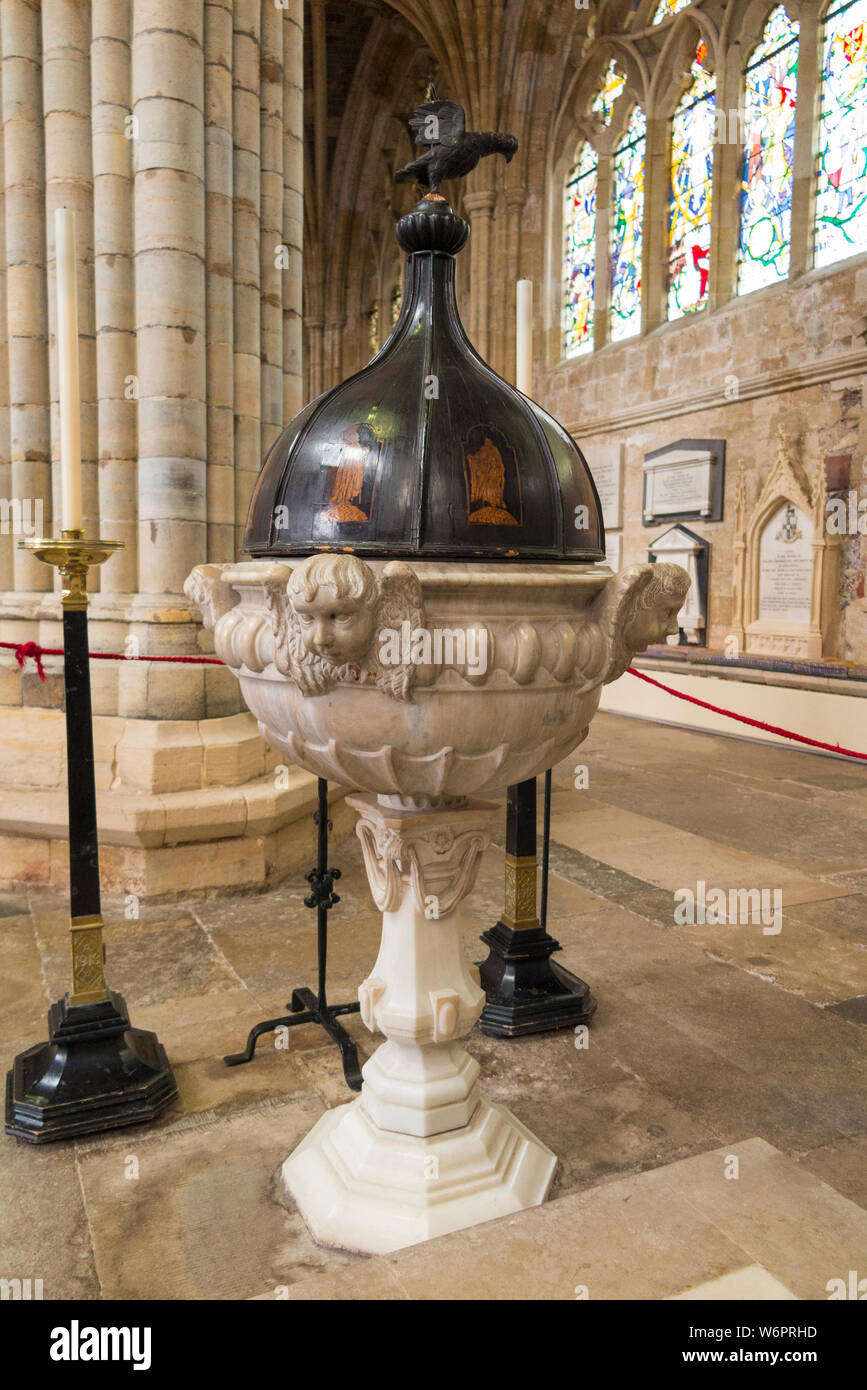
[[[567,357],[589,352],[593,346],[596,168],[596,152],[584,145],[565,185],[563,352]]]

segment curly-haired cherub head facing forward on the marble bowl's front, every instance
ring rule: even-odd
[[[289,596],[304,652],[332,666],[361,662],[377,626],[377,584],[354,555],[314,555],[292,571]]]

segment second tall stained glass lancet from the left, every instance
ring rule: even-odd
[[[639,106],[611,160],[611,341],[641,331],[642,225],[647,122]]]

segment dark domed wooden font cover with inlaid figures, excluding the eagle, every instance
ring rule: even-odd
[[[604,557],[581,450],[463,329],[454,256],[468,234],[438,196],[400,220],[400,317],[368,366],[307,404],[271,448],[250,502],[250,555]]]

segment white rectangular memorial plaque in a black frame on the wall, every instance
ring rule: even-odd
[[[722,520],[725,439],[678,439],[645,455],[645,525]]]

